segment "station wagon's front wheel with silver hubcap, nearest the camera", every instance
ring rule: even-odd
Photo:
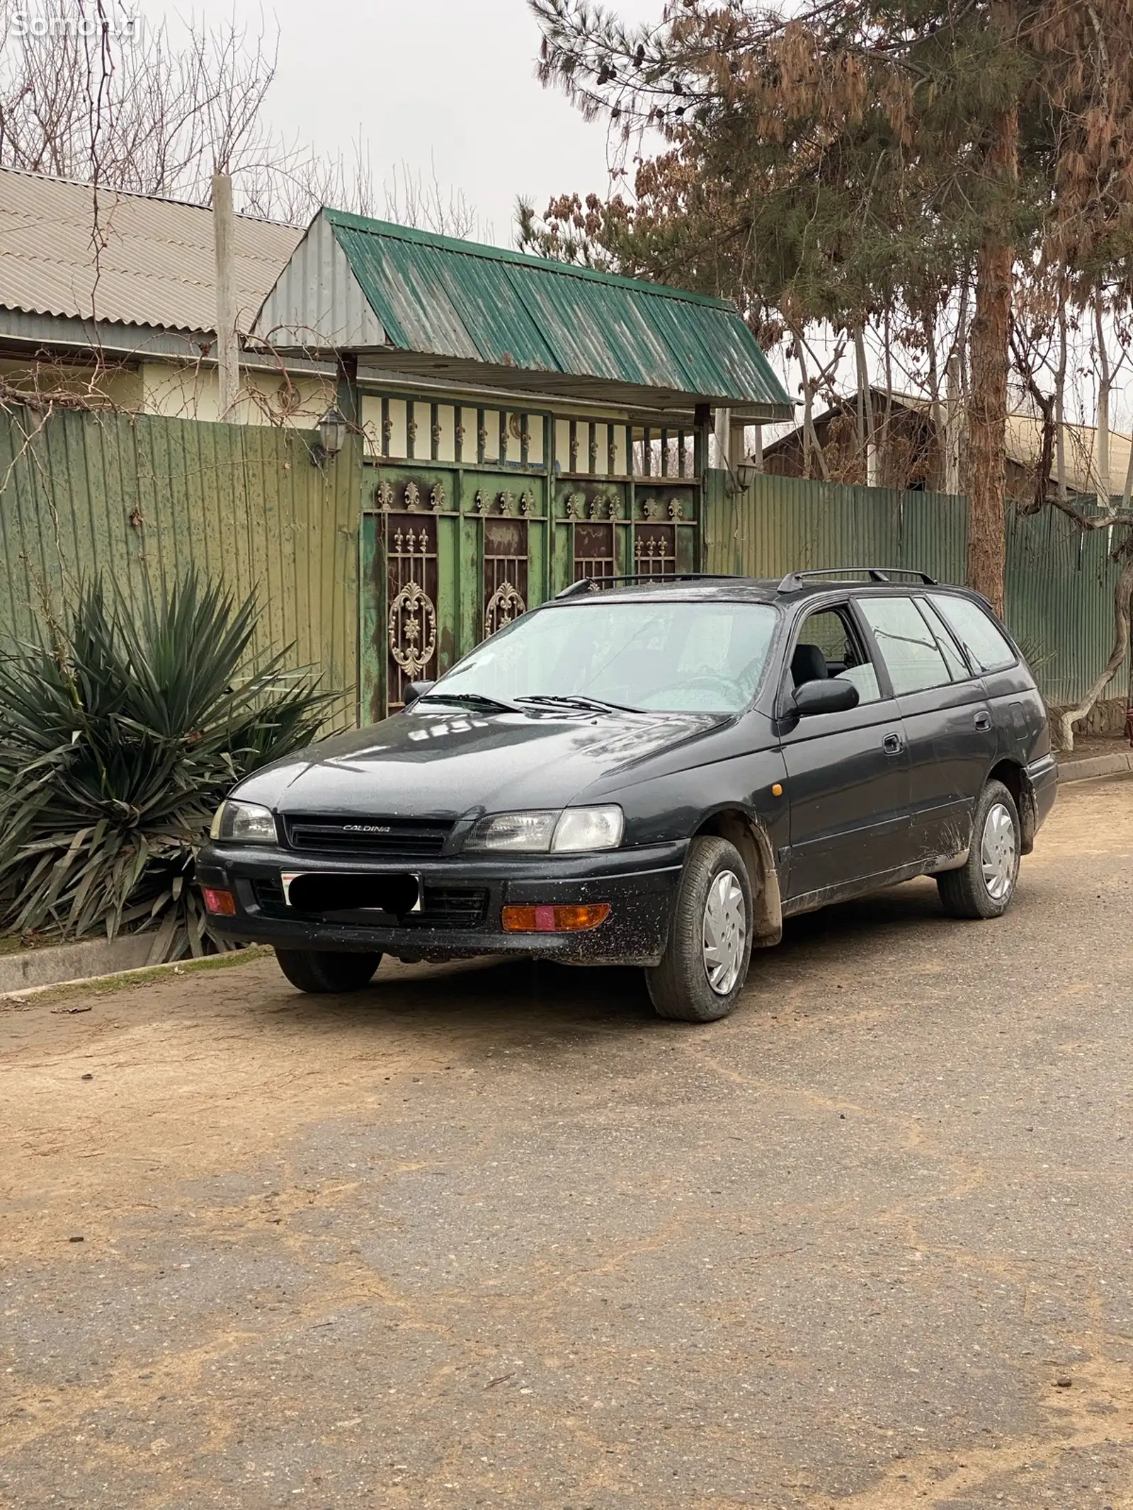
[[[727,1018],[748,978],[751,924],[751,880],[740,852],[727,840],[695,838],[669,942],[660,965],[645,971],[657,1016],[677,1022]]]

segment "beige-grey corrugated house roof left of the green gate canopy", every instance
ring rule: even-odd
[[[94,189],[0,169],[0,305],[32,314],[213,331],[213,213],[98,190],[106,246],[95,267]],[[237,323],[246,331],[302,231],[236,217]]]

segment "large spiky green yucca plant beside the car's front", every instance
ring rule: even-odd
[[[140,609],[82,586],[0,651],[0,932],[215,947],[193,861],[233,782],[308,743],[332,692],[249,654],[255,598],[190,572]]]

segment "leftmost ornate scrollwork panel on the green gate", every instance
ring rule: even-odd
[[[437,519],[385,515],[388,707],[405,704],[409,681],[437,676]]]

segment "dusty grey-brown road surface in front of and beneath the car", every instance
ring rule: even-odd
[[[0,1007],[0,1505],[1127,1510],[1131,1086],[1133,778],[1005,921],[799,920],[712,1027],[482,963]]]

